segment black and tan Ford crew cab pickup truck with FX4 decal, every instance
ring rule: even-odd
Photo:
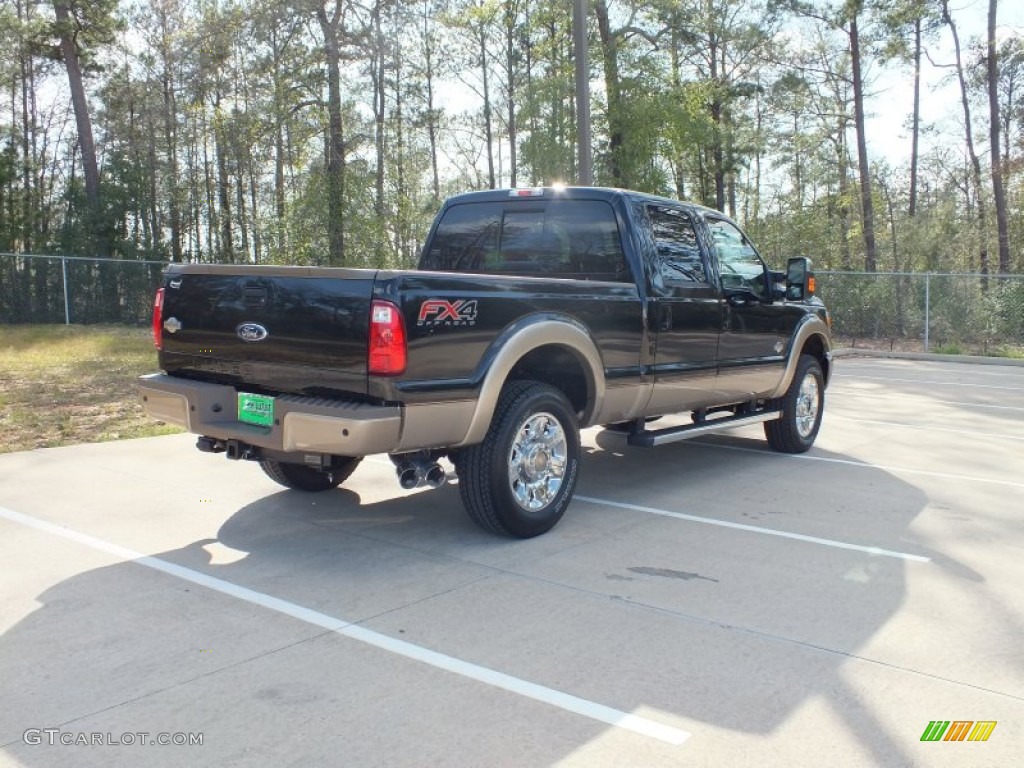
[[[519,538],[562,517],[580,430],[647,447],[763,423],[814,442],[831,370],[806,258],[771,271],[717,211],[591,187],[447,200],[416,270],[173,264],[148,414],[198,447],[322,492],[388,454]],[[657,428],[656,417],[691,423]],[[678,420],[677,420],[678,421]]]

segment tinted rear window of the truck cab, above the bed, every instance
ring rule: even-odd
[[[632,282],[614,211],[590,200],[456,204],[420,268]]]

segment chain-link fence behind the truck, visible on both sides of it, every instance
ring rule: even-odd
[[[0,323],[143,326],[166,264],[0,254]],[[1024,275],[820,271],[839,343],[993,353],[1024,348]]]

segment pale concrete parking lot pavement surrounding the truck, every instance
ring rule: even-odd
[[[0,764],[1020,764],[1024,368],[842,358],[803,457],[589,430],[525,542],[194,441],[0,456]]]

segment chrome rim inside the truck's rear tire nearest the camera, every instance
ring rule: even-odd
[[[565,476],[567,441],[551,414],[531,414],[516,430],[509,451],[512,497],[522,509],[543,509],[558,495]]]

